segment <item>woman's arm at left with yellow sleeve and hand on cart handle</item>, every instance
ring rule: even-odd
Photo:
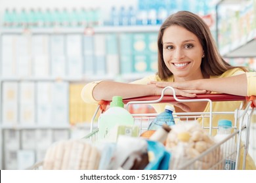
[[[131,97],[141,97],[148,95],[161,95],[163,88],[155,84],[128,84],[103,80],[100,82],[91,82],[83,87],[81,97],[87,103],[97,103],[100,100],[110,101],[115,95],[123,99]],[[196,97],[196,94],[205,93],[205,90],[179,90],[175,89],[177,95],[184,97]],[[166,90],[166,95],[173,95],[172,90]]]

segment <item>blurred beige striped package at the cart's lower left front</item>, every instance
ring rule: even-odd
[[[45,170],[95,170],[98,169],[100,151],[84,140],[58,141],[45,154]]]

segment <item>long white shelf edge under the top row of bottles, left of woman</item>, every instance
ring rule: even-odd
[[[53,34],[53,33],[145,33],[145,32],[157,32],[160,29],[160,25],[135,25],[135,26],[104,26],[104,27],[45,27],[45,28],[3,28],[1,34]]]

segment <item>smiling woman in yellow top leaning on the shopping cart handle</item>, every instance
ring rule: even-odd
[[[161,95],[165,86],[173,86],[177,95],[196,97],[200,93],[230,93],[247,95],[247,80],[244,67],[233,67],[219,54],[209,27],[200,16],[188,11],[180,11],[169,16],[158,33],[158,73],[131,83],[108,80],[91,82],[84,86],[81,97],[87,103],[110,101],[114,95],[123,99],[146,95]],[[224,80],[241,75],[240,82]],[[205,81],[205,82],[202,82]],[[226,82],[225,82],[226,81]],[[248,80],[249,81],[249,80]],[[212,82],[212,84],[211,84]],[[198,87],[203,83],[203,87]],[[249,82],[248,82],[249,83]],[[191,85],[190,85],[191,84]],[[191,87],[189,87],[191,86]],[[255,85],[256,86],[256,85]],[[239,88],[239,90],[234,90]],[[173,95],[171,90],[165,94]],[[213,102],[214,112],[234,111],[241,101]],[[166,104],[154,104],[157,112],[162,112]],[[209,103],[173,103],[175,112],[209,112]],[[220,119],[231,120],[233,116],[217,115],[212,119],[217,126]],[[198,120],[199,123],[202,121]],[[204,126],[209,125],[204,121]],[[247,159],[248,160],[248,159]],[[255,169],[253,161],[246,162],[246,169]]]

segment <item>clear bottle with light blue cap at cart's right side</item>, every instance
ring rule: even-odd
[[[232,122],[230,120],[219,120],[218,132],[214,139],[216,142],[221,142],[232,133]],[[234,170],[236,168],[236,144],[234,138],[228,139],[228,141],[221,144],[221,150],[223,152],[224,169]]]

